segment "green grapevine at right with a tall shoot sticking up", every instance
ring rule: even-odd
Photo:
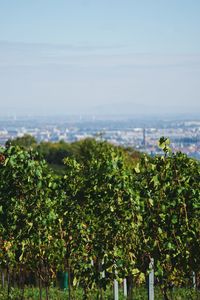
[[[154,258],[156,275],[166,289],[199,272],[200,166],[183,153],[171,153],[161,138],[163,156],[144,156],[135,169],[140,198],[138,268]]]

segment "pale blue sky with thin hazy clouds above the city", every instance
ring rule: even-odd
[[[199,0],[0,0],[0,115],[200,111]]]

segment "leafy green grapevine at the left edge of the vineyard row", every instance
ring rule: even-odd
[[[8,271],[38,274],[48,286],[62,263],[64,244],[56,206],[57,180],[36,154],[11,146],[0,151],[1,251]],[[20,271],[21,272],[21,271]]]

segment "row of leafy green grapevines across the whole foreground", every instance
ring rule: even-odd
[[[66,299],[79,299],[76,291],[80,299],[113,299],[108,290],[124,279],[127,298],[136,299],[151,267],[159,299],[172,299],[173,289],[198,290],[200,163],[172,153],[166,138],[159,147],[162,156],[133,160],[107,142],[86,140],[79,156],[64,159],[62,175],[34,150],[1,148],[6,297],[17,288],[15,299],[33,299],[26,296],[32,287],[39,299],[52,299],[58,272],[67,272]]]

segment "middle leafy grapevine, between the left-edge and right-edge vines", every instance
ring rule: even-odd
[[[79,162],[67,159],[65,164],[63,187],[68,198],[62,215],[70,235],[66,236],[68,255],[85,290],[94,283],[102,290],[115,277],[129,274],[134,265],[136,207],[131,171],[122,151],[95,140],[82,143]]]

